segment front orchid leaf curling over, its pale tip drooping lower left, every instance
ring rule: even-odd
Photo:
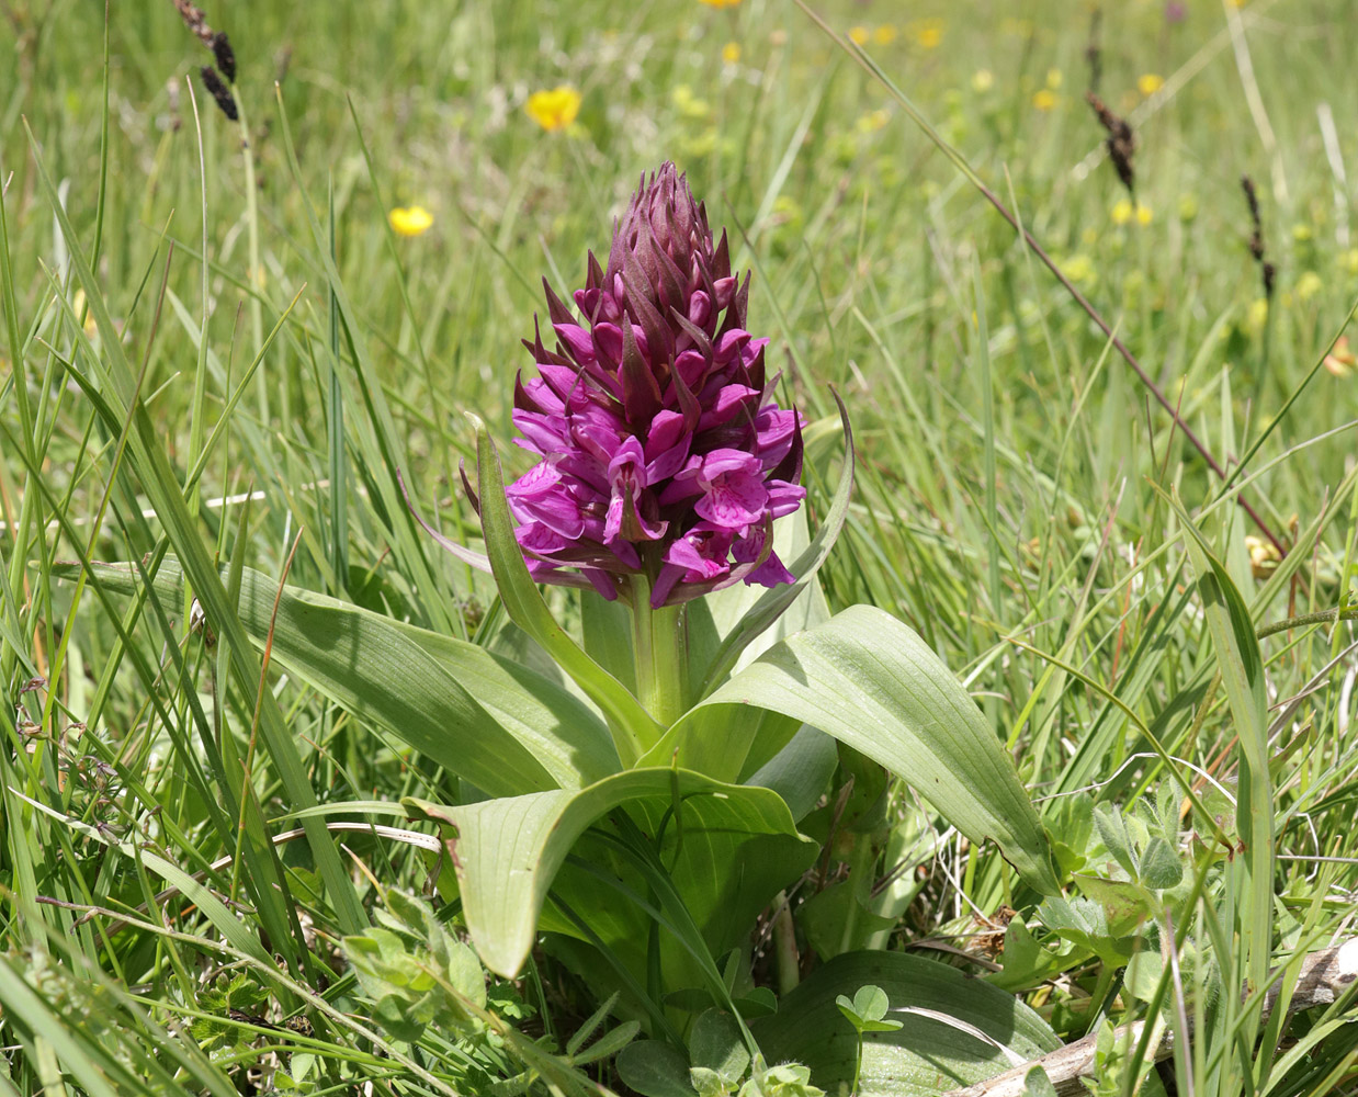
[[[747,931],[747,916],[815,857],[815,843],[797,834],[775,793],[724,785],[687,770],[629,770],[579,792],[464,806],[402,802],[411,815],[456,828],[454,863],[467,929],[482,963],[505,976],[516,975],[532,949],[538,915],[566,854],[588,827],[618,806],[641,816],[640,825],[650,827],[652,836],[659,825],[665,827],[661,858],[714,954],[724,950],[733,922],[744,922]],[[676,805],[678,817],[671,815]],[[572,878],[572,893],[589,904],[584,910],[591,927],[644,971],[645,933],[637,940],[636,915],[625,910],[621,896],[600,901],[600,885],[587,873],[576,870]]]

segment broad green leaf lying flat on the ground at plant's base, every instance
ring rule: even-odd
[[[888,999],[885,1017],[902,1026],[864,1037],[860,1097],[934,1097],[1008,1070],[1014,1056],[1061,1047],[1033,1010],[980,979],[909,953],[854,952],[813,971],[775,1016],[752,1022],[760,1051],[770,1062],[805,1063],[828,1093],[849,1085],[858,1037],[837,999],[872,986]]]

